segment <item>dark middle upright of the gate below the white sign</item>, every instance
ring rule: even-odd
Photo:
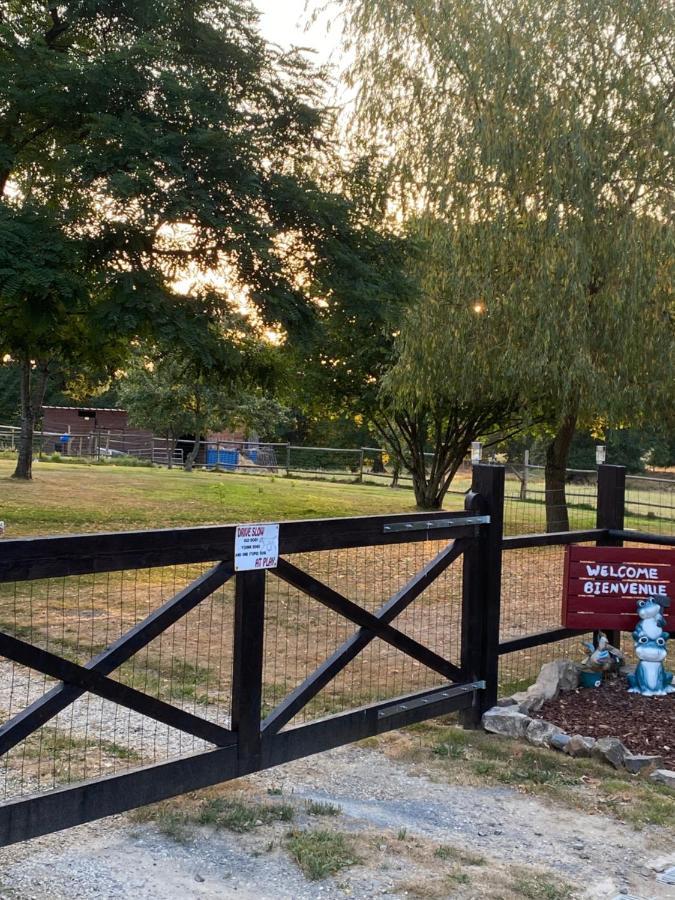
[[[242,774],[260,765],[265,571],[239,572],[234,591],[232,729],[238,733]]]

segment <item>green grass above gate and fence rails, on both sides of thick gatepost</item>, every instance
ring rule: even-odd
[[[129,531],[233,522],[320,519],[333,516],[416,512],[410,488],[182,469],[67,465],[36,462],[32,482],[10,476],[13,459],[0,458],[0,520],[7,537],[88,531]],[[457,476],[445,509],[461,510],[466,476]],[[635,493],[635,492],[634,492]],[[571,486],[570,526],[595,524],[595,488]],[[543,496],[517,500],[517,486],[507,485],[507,534],[544,531]],[[637,498],[637,499],[636,499]],[[642,508],[640,501],[647,504]],[[648,502],[649,501],[649,502]],[[675,493],[629,493],[626,527],[671,533]],[[656,510],[656,515],[654,514]]]

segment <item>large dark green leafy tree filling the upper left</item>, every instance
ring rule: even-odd
[[[100,380],[157,339],[227,371],[233,303],[297,337],[318,292],[358,288],[358,223],[308,174],[321,79],[256,25],[248,0],[2,4],[0,360],[21,369],[17,476],[54,367]]]

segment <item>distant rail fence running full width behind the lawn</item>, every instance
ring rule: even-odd
[[[38,456],[55,452],[71,458],[115,462],[132,457],[154,465],[181,466],[194,444],[142,435],[138,432],[95,431],[68,435],[35,434]],[[19,429],[0,425],[0,450],[16,450]],[[429,463],[432,454],[426,454]],[[526,454],[525,460],[528,459]],[[495,460],[493,460],[495,461]],[[213,472],[247,475],[280,475],[294,478],[345,481],[355,484],[396,485],[412,488],[406,469],[397,471],[394,459],[378,447],[305,447],[290,443],[262,441],[202,441],[196,468]],[[546,530],[549,496],[544,467],[529,462],[505,465],[504,527],[507,534],[534,534]],[[572,529],[592,527],[597,510],[597,470],[569,469],[565,499]],[[449,491],[446,505],[463,497],[471,485],[471,464],[460,467]],[[625,515],[630,527],[656,534],[675,533],[675,476],[668,474],[628,475]]]

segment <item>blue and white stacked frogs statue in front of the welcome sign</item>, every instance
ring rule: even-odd
[[[673,676],[671,672],[666,672],[664,665],[669,635],[663,630],[666,624],[663,609],[653,600],[640,600],[638,615],[640,621],[633,632],[633,641],[639,662],[635,674],[628,676],[628,690],[631,694],[643,694],[645,697],[673,694]]]

